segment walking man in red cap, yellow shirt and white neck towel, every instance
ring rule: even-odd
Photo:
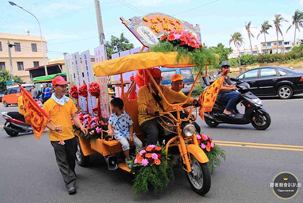
[[[57,164],[68,188],[69,194],[76,193],[75,158],[77,151],[77,140],[73,133],[71,116],[74,123],[86,134],[87,130],[82,127],[77,115],[77,108],[70,98],[66,97],[66,85],[68,82],[61,75],[52,81],[55,93],[48,99],[43,109],[56,123],[56,127],[47,124],[49,128],[49,140],[54,147]]]

